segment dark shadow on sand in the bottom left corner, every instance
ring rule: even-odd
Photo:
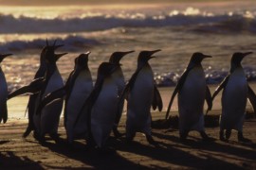
[[[15,163],[13,163],[15,162]],[[0,169],[44,169],[39,162],[31,161],[26,156],[18,157],[14,152],[0,153]]]

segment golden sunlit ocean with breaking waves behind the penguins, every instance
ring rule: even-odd
[[[229,73],[234,52],[255,52],[256,2],[0,7],[0,53],[12,53],[1,66],[9,91],[28,84],[39,66],[41,49],[57,40],[56,53],[64,80],[74,59],[91,51],[89,68],[94,80],[98,66],[115,51],[135,50],[121,60],[126,80],[137,68],[141,50],[161,49],[150,64],[160,87],[174,86],[192,53],[202,52],[209,84]],[[256,80],[256,54],[242,62],[247,79]]]

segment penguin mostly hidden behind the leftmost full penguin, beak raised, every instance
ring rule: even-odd
[[[55,45],[56,41],[53,43],[52,46],[50,46],[46,40],[46,46],[42,49],[41,54],[40,54],[40,65],[39,68],[34,76],[34,79],[37,79],[39,77],[43,77],[46,74],[46,50],[48,48],[54,48],[56,50],[57,48],[63,46],[63,45]],[[64,54],[58,54],[55,55],[55,57],[60,59]],[[28,114],[28,125],[26,131],[23,133],[23,137],[26,138],[30,132],[34,129],[34,124],[33,124],[33,114],[35,112],[35,102],[36,98],[38,96],[38,93],[31,93],[28,98],[28,103],[27,103],[27,114]]]

